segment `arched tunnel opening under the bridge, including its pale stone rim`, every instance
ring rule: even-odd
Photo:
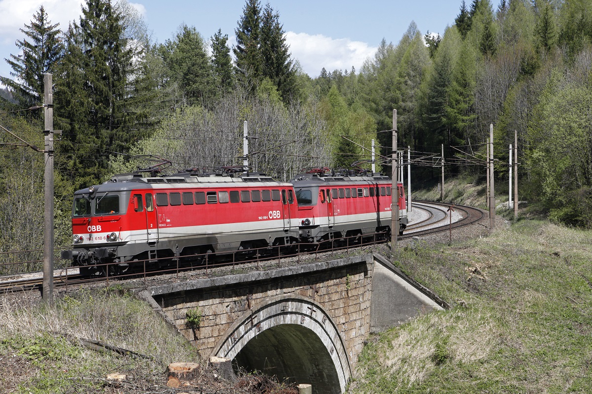
[[[345,341],[317,302],[298,295],[256,305],[226,331],[214,356],[280,380],[310,383],[313,393],[342,393],[351,376]]]

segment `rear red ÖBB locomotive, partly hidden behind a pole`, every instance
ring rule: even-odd
[[[311,168],[291,180],[298,201],[301,242],[330,239],[360,240],[366,235],[391,231],[391,178],[365,170],[334,173]],[[398,183],[399,235],[407,226],[403,184]]]

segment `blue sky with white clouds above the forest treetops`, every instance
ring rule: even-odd
[[[221,29],[229,46],[236,43],[234,30],[243,15],[245,0],[131,0],[152,32],[152,41],[173,38],[179,25],[194,26],[205,41]],[[268,1],[262,0],[264,6]],[[443,34],[459,13],[462,0],[269,0],[284,25],[292,58],[303,71],[317,77],[327,71],[361,69],[382,38],[397,44],[411,21],[422,34]],[[79,20],[80,0],[0,0],[0,76],[12,70],[4,60],[18,54],[15,41],[23,40],[20,29],[30,24],[43,4],[50,21],[66,30]]]

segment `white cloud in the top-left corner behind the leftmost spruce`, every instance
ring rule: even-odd
[[[59,23],[61,30],[81,14],[82,0],[0,0],[0,44],[22,40],[19,29],[31,23],[42,4],[50,22]]]

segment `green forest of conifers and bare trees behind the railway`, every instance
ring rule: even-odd
[[[43,110],[31,108],[43,102],[43,73],[53,74],[57,245],[70,242],[73,191],[112,174],[162,159],[172,171],[242,164],[244,121],[253,170],[288,180],[302,168],[349,167],[370,158],[359,145],[372,139],[390,155],[392,109],[399,147],[419,158],[443,144],[446,173],[477,181],[490,124],[500,180],[516,131],[520,200],[592,227],[592,2],[462,1],[443,35],[411,21],[360,70],[314,77],[291,57],[280,12],[246,0],[234,31],[203,37],[184,24],[164,43],[150,41],[126,2],[87,0],[67,26],[43,6],[31,16],[22,54],[5,59],[0,125],[43,147]],[[36,249],[43,154],[4,131],[0,148],[0,251]],[[416,179],[433,176],[423,164]]]

